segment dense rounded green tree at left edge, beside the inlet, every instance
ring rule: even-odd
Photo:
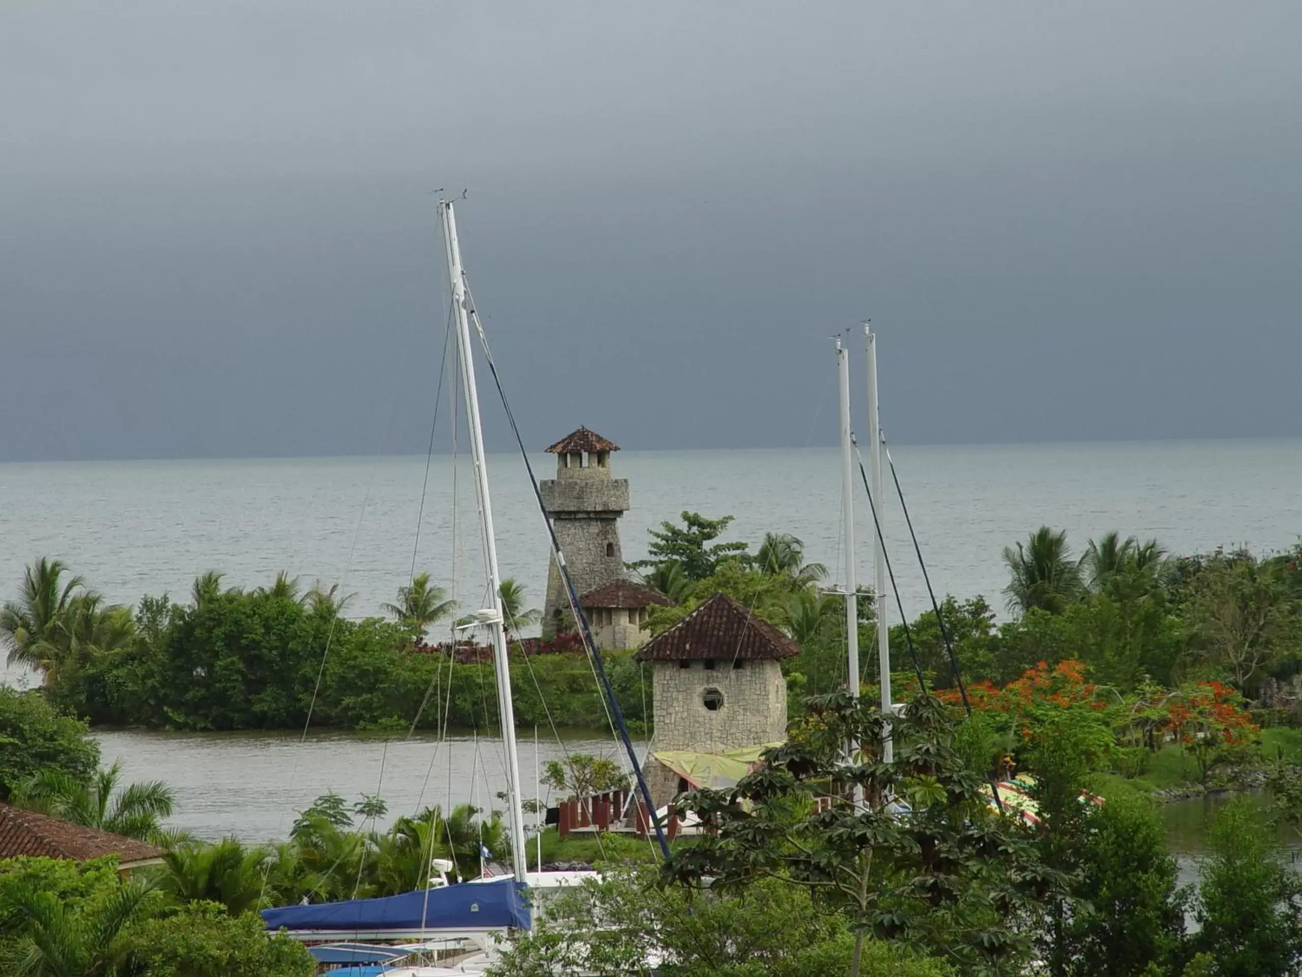
[[[40,692],[0,685],[0,801],[43,771],[82,782],[98,767],[86,723],[61,715]]]

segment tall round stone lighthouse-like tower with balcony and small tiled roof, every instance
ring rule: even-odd
[[[629,508],[629,481],[611,478],[611,455],[618,447],[579,427],[547,449],[556,456],[556,478],[543,482],[543,505],[556,529],[575,594],[624,577],[620,516]],[[565,585],[552,560],[547,568],[543,636],[572,621]]]

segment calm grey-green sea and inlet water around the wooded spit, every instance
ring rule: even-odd
[[[982,593],[996,607],[1001,548],[1042,522],[1066,529],[1077,550],[1111,529],[1156,537],[1176,552],[1280,550],[1302,533],[1298,440],[900,447],[894,456],[936,588]],[[543,475],[555,465],[546,455],[534,462]],[[695,509],[736,516],[729,538],[794,533],[810,559],[844,576],[835,449],[629,451],[615,468],[631,483],[621,529],[628,559],[644,555],[648,526]],[[547,537],[519,459],[492,456],[490,475],[503,574],[540,603]],[[409,580],[414,554],[418,571],[478,606],[483,561],[469,466],[435,457],[422,511],[424,479],[423,457],[0,465],[0,597],[17,591],[26,563],[51,555],[112,601],[185,595],[207,569],[243,586],[285,569],[305,585],[340,582],[353,594],[348,612],[365,616]],[[871,518],[858,503],[858,574],[868,581]],[[922,578],[898,503],[891,496],[883,508],[905,608],[915,615],[924,610]],[[30,681],[16,672],[7,680]],[[130,776],[177,784],[176,823],[210,836],[283,832],[293,810],[328,787],[374,792],[385,752],[379,741],[331,735],[302,745],[292,736],[139,732],[102,741]],[[421,795],[435,744],[387,749],[383,793],[400,812]],[[477,765],[466,741],[447,749],[450,799],[473,800],[492,763]],[[477,769],[483,778],[470,775]],[[447,783],[432,796],[447,802]]]

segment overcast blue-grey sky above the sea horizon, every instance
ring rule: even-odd
[[[1302,435],[1299,36],[1286,1],[7,0],[0,460],[423,451],[439,186],[531,447],[832,443],[866,315],[894,442]]]

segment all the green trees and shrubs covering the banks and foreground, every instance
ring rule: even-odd
[[[1073,572],[1061,563],[1070,561],[1064,541],[1035,534],[1008,554],[1010,620],[996,623],[983,602],[947,601],[940,621],[923,615],[907,638],[900,628],[901,660],[909,662],[911,640],[927,688],[911,670],[900,673],[910,707],[892,719],[894,759],[887,765],[874,745],[884,731],[876,697],[854,703],[837,689],[844,615],[835,595],[818,591],[819,568],[790,538],[769,537],[754,555],[717,551],[712,541],[724,526],[687,521],[661,530],[664,552],[673,555],[643,572],[674,590],[677,603],[656,611],[652,624],[671,627],[724,590],[801,633],[803,650],[786,676],[788,744],[734,789],[680,799],[707,831],[680,839],[663,866],[646,842],[560,842],[546,832],[544,862],[595,861],[611,874],[559,899],[531,934],[517,934],[499,974],[548,973],[557,961],[631,970],[648,955],[664,973],[737,977],[1295,972],[1302,888],[1277,857],[1269,823],[1302,825],[1290,558],[1155,563],[1156,547],[1139,556],[1141,547],[1104,539]],[[678,559],[698,546],[707,559]],[[1131,555],[1108,555],[1117,552]],[[1115,569],[1099,569],[1105,565]],[[410,891],[428,877],[431,857],[470,878],[482,857],[505,856],[495,812],[395,812],[381,827],[388,812],[379,797],[350,805],[326,795],[276,843],[169,834],[165,786],[117,783],[112,769],[102,770],[85,719],[70,715],[104,718],[135,703],[158,726],[297,723],[306,720],[320,673],[323,723],[352,701],[362,705],[348,706],[354,719],[341,724],[391,716],[392,728],[405,731],[435,698],[431,685],[443,703],[462,701],[473,715],[491,716],[483,650],[422,640],[439,621],[422,620],[419,608],[445,599],[428,581],[417,588],[423,595],[395,602],[396,620],[354,621],[340,615],[335,595],[298,594],[284,576],[241,591],[208,574],[185,603],[143,601],[130,627],[112,632],[130,640],[113,645],[102,623],[87,620],[90,608],[68,610],[87,593],[83,585],[69,588],[66,572],[49,563],[33,571],[33,584],[51,571],[59,578],[7,610],[12,647],[44,671],[46,684],[0,690],[5,796],[151,839],[165,855],[125,879],[112,862],[0,862],[4,967],[105,977],[307,974],[301,948],[267,941],[253,913]],[[1212,577],[1202,580],[1204,572]],[[55,608],[52,620],[42,607]],[[92,610],[121,619],[103,602]],[[70,616],[60,623],[61,614]],[[941,623],[958,646],[962,688]],[[867,642],[871,604],[861,625]],[[1226,634],[1237,636],[1233,649]],[[1245,650],[1245,641],[1256,650]],[[548,681],[586,667],[564,642],[516,642],[514,654],[523,696],[539,687],[551,696]],[[628,670],[621,696],[635,706],[641,670],[626,655],[615,660]],[[384,681],[418,668],[405,680],[406,698],[385,698],[393,693]],[[448,675],[450,688],[440,684]],[[173,680],[180,692],[167,688]],[[570,689],[575,698],[592,694],[591,675]],[[410,714],[397,706],[384,713],[395,701]],[[863,745],[850,765],[848,739]],[[612,772],[594,763],[548,776],[557,791],[582,793]],[[990,782],[1012,774],[1030,784],[1034,821],[1001,815],[991,802]],[[1150,793],[1251,784],[1263,774],[1269,801],[1228,805],[1208,836],[1198,885],[1181,887]],[[850,804],[855,795],[867,805]]]

